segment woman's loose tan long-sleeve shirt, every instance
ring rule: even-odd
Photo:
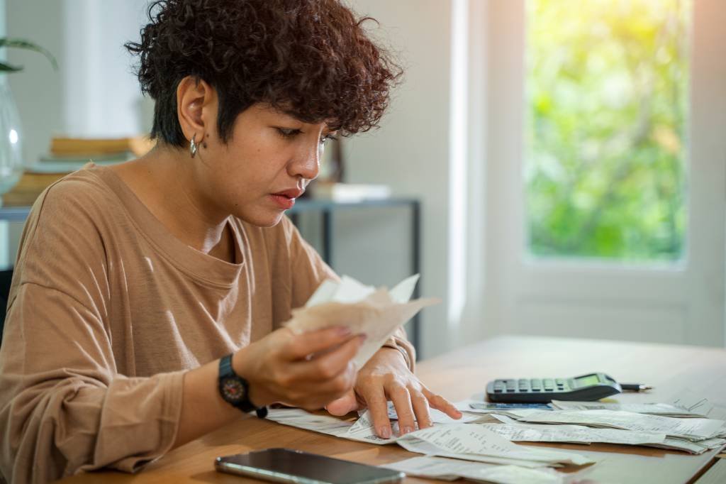
[[[110,169],[49,187],[26,222],[0,347],[0,474],[133,472],[176,437],[184,371],[278,328],[335,274],[287,219],[230,217],[235,263],[185,245]],[[414,360],[400,334],[399,347]]]

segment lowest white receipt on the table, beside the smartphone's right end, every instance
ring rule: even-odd
[[[513,465],[464,462],[443,457],[413,457],[383,464],[381,467],[405,472],[407,475],[440,480],[465,479],[495,484],[563,484],[566,476],[551,469],[528,469]]]

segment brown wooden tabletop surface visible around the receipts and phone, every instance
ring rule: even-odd
[[[489,339],[420,363],[417,374],[435,392],[451,400],[481,393],[491,379],[502,377],[575,376],[604,371],[621,382],[652,384],[650,395],[619,395],[620,402],[666,402],[676,392],[691,390],[714,403],[726,404],[726,350],[704,347],[640,344],[585,339],[506,336]],[[529,444],[544,445],[544,444]],[[694,482],[714,463],[717,451],[687,453],[628,445],[550,444],[593,456],[600,462],[587,477],[606,483]],[[267,447],[288,447],[340,459],[384,464],[419,454],[397,445],[372,445],[285,427],[269,421],[242,418],[171,451],[138,475],[94,472],[68,483],[230,483],[242,477],[215,472],[216,456]],[[719,459],[719,466],[726,459]],[[714,467],[709,475],[714,475]],[[723,469],[721,469],[723,470]],[[705,480],[705,479],[704,479]],[[407,482],[431,482],[415,478]],[[710,481],[709,481],[710,482]]]

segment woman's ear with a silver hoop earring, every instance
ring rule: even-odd
[[[216,116],[216,92],[203,79],[187,76],[176,86],[176,114],[187,140],[201,142]]]

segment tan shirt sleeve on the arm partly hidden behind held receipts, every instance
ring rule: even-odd
[[[287,217],[283,217],[288,251],[291,260],[292,307],[303,306],[312,296],[315,289],[325,279],[339,281],[338,275],[327,265],[313,247],[303,239],[298,229]],[[416,351],[409,342],[406,331],[401,326],[396,333],[383,344],[385,347],[401,351],[411,371],[415,371]]]

